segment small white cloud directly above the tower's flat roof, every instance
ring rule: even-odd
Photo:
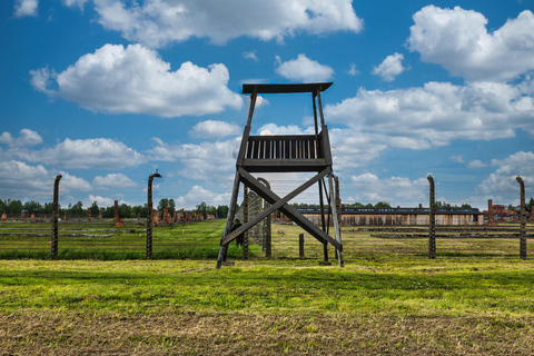
[[[283,62],[280,57],[276,56],[276,62],[278,65],[276,72],[294,81],[327,81],[334,76],[334,69],[307,58],[304,53],[298,55],[297,59],[286,62]]]

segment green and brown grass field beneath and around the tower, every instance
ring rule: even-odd
[[[221,227],[155,229],[155,248],[177,235],[218,244]],[[298,259],[298,227],[273,230],[273,259],[236,250],[219,270],[201,256],[0,260],[0,354],[534,354],[534,269],[517,239],[438,239],[429,260],[426,239],[356,229],[339,268],[332,249],[318,265],[309,236]]]

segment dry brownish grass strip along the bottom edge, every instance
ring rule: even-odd
[[[534,320],[245,314],[0,316],[0,355],[532,355]]]

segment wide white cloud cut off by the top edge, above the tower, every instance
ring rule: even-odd
[[[362,29],[352,0],[95,0],[98,22],[129,41],[162,47],[191,37],[224,44],[241,36],[281,42],[297,32]]]

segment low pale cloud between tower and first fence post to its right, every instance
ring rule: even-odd
[[[373,174],[350,177],[350,184],[345,187],[347,194],[359,202],[386,201],[390,205],[417,207],[427,201],[428,180],[426,177],[415,180],[404,177],[379,178]]]

